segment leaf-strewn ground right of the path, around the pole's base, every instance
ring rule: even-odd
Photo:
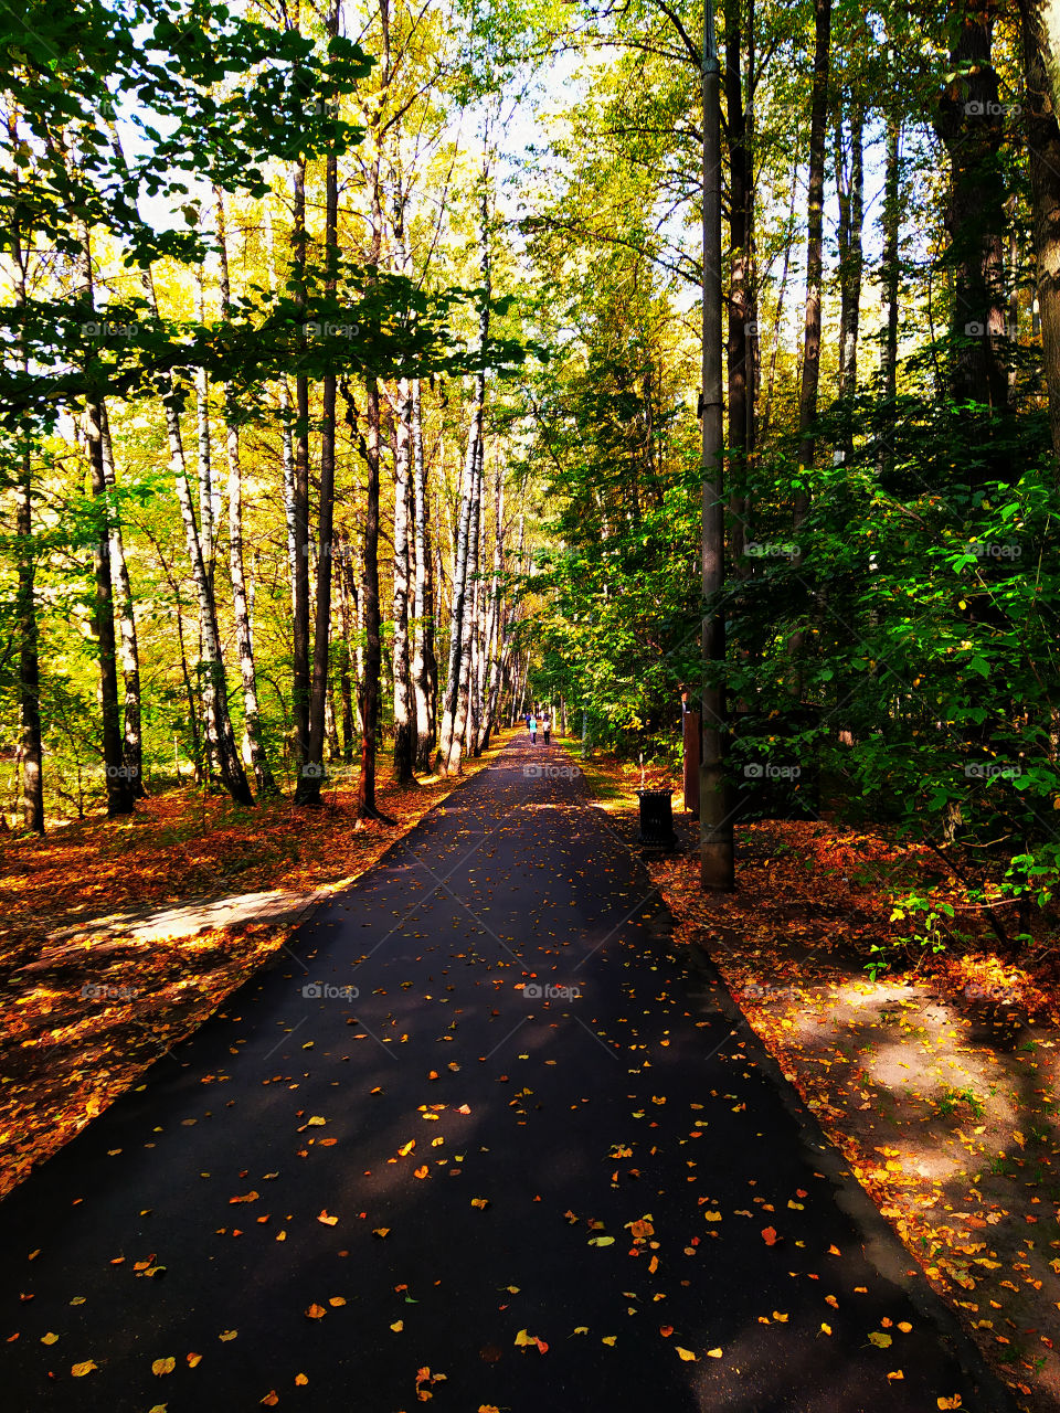
[[[640,771],[584,764],[635,845]],[[937,858],[820,821],[738,827],[736,893],[698,889],[697,825],[674,787],[690,852],[649,859],[677,918],[1022,1406],[1060,1407],[1060,986],[1043,935],[998,954],[985,927],[960,952],[900,952],[872,981],[890,921],[886,880],[923,877],[958,911]],[[964,916],[972,916],[965,913]]]

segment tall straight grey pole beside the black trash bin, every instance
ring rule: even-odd
[[[702,17],[702,595],[725,581],[722,500],[721,356],[721,96],[714,4]],[[702,620],[702,750],[700,755],[700,886],[729,892],[734,883],[732,820],[725,788],[725,616],[712,606]],[[709,673],[717,667],[715,674]],[[714,680],[717,677],[717,680]]]

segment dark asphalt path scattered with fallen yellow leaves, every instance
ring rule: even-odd
[[[998,1409],[821,1143],[517,736],[0,1202],[0,1407]]]

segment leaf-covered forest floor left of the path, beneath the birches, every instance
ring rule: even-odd
[[[465,763],[465,779],[499,743]],[[0,1197],[192,1031],[284,942],[297,914],[369,869],[459,783],[397,790],[358,825],[356,769],[317,811],[171,790],[0,844]],[[246,903],[252,918],[247,921]]]

